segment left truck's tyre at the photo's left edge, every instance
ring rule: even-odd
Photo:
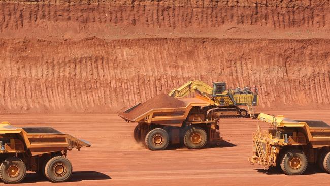
[[[8,157],[0,165],[0,179],[4,183],[19,183],[25,176],[25,163],[17,157]]]

